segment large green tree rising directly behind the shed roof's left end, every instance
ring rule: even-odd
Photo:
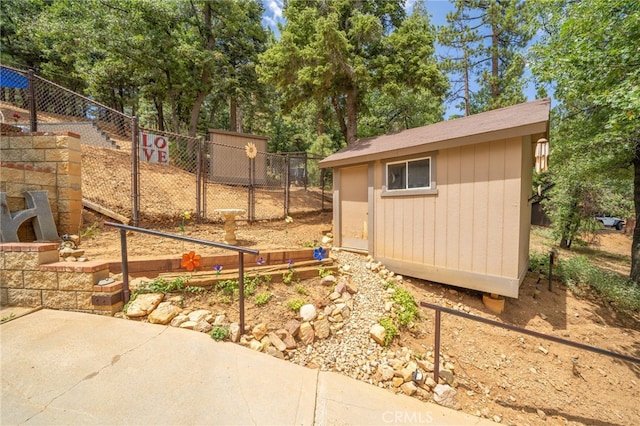
[[[261,79],[276,87],[285,113],[313,105],[348,144],[367,111],[363,94],[379,90],[395,101],[415,89],[439,99],[446,90],[434,29],[419,7],[407,18],[401,0],[303,0],[287,2],[283,14],[280,39],[260,55]]]

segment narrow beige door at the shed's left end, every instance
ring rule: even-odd
[[[345,248],[369,248],[368,170],[367,165],[340,170],[340,233]]]

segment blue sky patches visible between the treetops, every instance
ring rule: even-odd
[[[282,7],[283,0],[262,0],[262,3],[265,8],[265,13],[262,18],[262,22],[264,25],[272,28],[276,34],[278,34],[277,24],[284,23],[284,19],[282,17]],[[431,16],[431,23],[436,27],[446,25],[446,15],[448,12],[452,12],[454,10],[454,5],[452,2],[447,0],[406,0],[405,8],[407,13],[411,13],[413,11],[414,6],[417,3],[423,3],[426,6],[427,12]],[[444,47],[436,46],[436,54],[439,56],[443,56],[447,53]],[[529,77],[530,73],[527,69],[525,71],[525,77]],[[527,100],[532,101],[536,98],[536,91],[533,87],[533,84],[530,84],[529,87],[525,90],[525,95]],[[459,101],[454,102],[457,104]],[[448,106],[446,116],[449,117],[452,114],[460,114],[462,111],[454,106]]]

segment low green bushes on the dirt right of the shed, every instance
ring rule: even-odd
[[[560,259],[555,273],[578,295],[590,288],[617,309],[640,312],[640,286],[620,274],[594,266],[584,256]]]

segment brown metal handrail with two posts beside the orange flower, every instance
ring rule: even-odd
[[[137,226],[122,225],[120,223],[105,222],[107,226],[120,229],[120,251],[122,256],[122,294],[124,303],[129,301],[129,266],[127,259],[127,232],[140,232],[142,234],[155,235],[156,237],[171,238],[174,240],[187,241],[190,243],[202,244],[210,247],[222,248],[225,250],[231,250],[238,252],[238,298],[240,304],[240,332],[244,333],[244,254],[259,254],[259,250],[248,249],[244,247],[232,246],[229,244],[215,243],[213,241],[200,240],[197,238],[185,237],[182,235],[169,234],[167,232],[154,231],[151,229],[138,228]]]

